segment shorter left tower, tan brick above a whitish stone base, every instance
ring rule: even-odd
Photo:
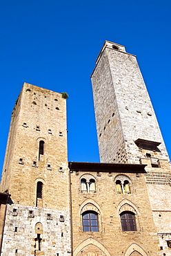
[[[68,255],[66,100],[61,93],[23,84],[12,112],[1,191],[12,200],[2,256]]]

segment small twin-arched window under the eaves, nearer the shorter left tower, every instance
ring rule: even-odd
[[[85,175],[81,179],[81,192],[82,193],[95,193],[96,192],[96,183],[93,179],[94,177],[88,175]]]

